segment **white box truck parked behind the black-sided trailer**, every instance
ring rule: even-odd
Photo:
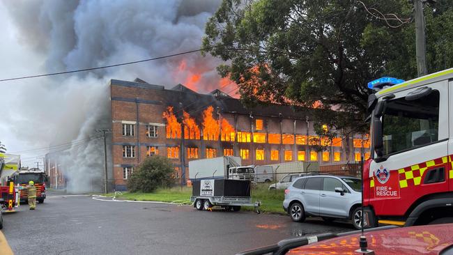
[[[254,182],[254,166],[241,166],[240,157],[224,156],[189,162],[189,178],[250,180]]]

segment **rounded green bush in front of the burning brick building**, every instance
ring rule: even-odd
[[[169,187],[173,183],[173,163],[159,155],[146,158],[128,180],[130,192],[153,192],[158,187]]]

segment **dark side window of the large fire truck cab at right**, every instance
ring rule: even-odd
[[[383,155],[438,141],[439,91],[417,100],[387,102],[382,117]]]

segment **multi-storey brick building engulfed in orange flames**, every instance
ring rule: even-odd
[[[112,79],[110,89],[116,190],[124,190],[133,169],[155,154],[174,161],[174,177],[183,183],[188,162],[201,158],[236,155],[243,164],[265,165],[358,161],[369,155],[360,134],[334,139],[327,151],[313,150],[312,141],[328,141],[316,136],[306,111],[290,106],[247,109],[220,90],[201,94],[181,84],[166,89],[141,79]]]

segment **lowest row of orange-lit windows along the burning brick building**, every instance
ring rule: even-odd
[[[179,147],[167,147],[167,157],[171,159],[178,159],[179,158]],[[159,154],[158,147],[156,146],[146,146],[146,155],[157,155]],[[224,148],[223,155],[224,156],[233,156],[233,149],[232,148]],[[330,152],[323,151],[322,153],[323,161],[330,160]],[[250,151],[249,149],[240,149],[240,157],[243,160],[249,160]],[[265,160],[265,152],[264,149],[256,149],[255,150],[256,160]],[[125,145],[123,146],[123,157],[135,157],[135,146]],[[217,157],[217,149],[215,148],[206,148],[206,158],[213,158]],[[316,151],[310,151],[309,157],[311,161],[318,160],[318,153]],[[354,154],[355,161],[360,161],[362,154],[356,152]],[[370,157],[370,153],[364,153],[364,159],[367,160]],[[197,159],[199,158],[199,150],[197,147],[194,148],[187,148],[187,158]],[[305,150],[298,150],[297,160],[305,161]],[[270,160],[279,160],[279,150],[270,150]],[[284,150],[284,160],[285,161],[292,161],[293,160],[293,150]],[[339,162],[341,161],[341,152],[335,151],[333,153],[333,161]]]

